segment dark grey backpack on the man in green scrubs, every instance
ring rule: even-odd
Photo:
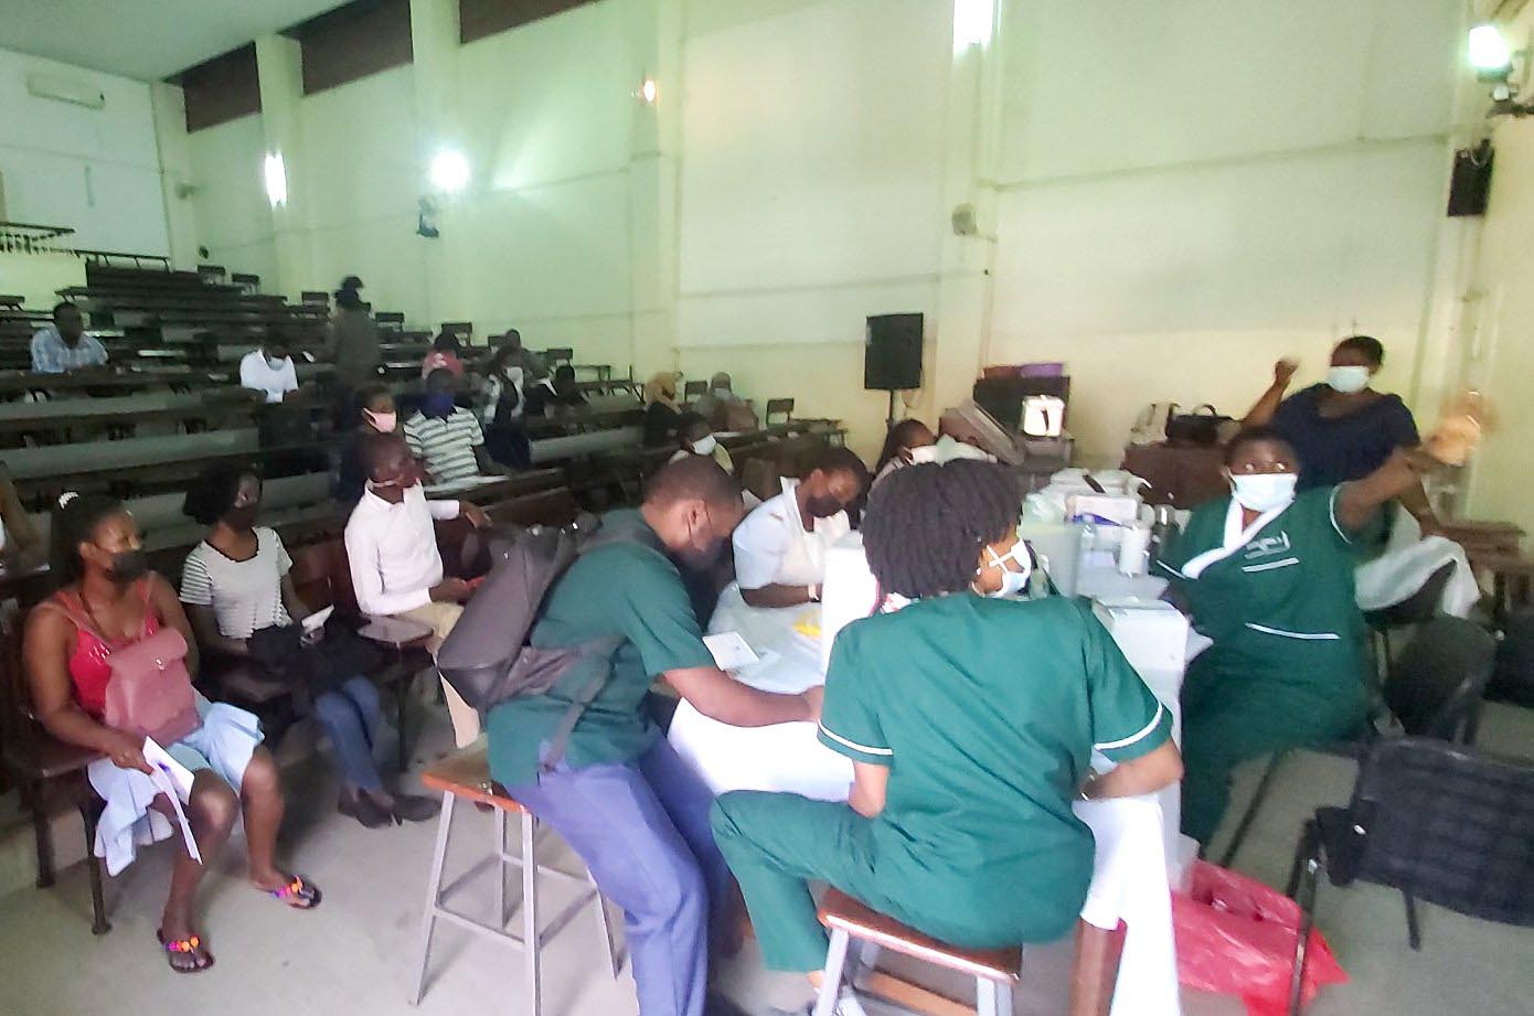
[[[621,521],[604,526],[591,515],[581,515],[563,529],[534,526],[503,533],[492,541],[489,575],[437,650],[442,677],[482,716],[508,699],[549,693],[586,660],[601,662],[598,673],[575,691],[543,749],[540,766],[545,772],[565,757],[571,731],[606,687],[612,676],[612,654],[624,639],[609,636],[580,645],[534,648],[528,645],[528,636],[549,590],[575,558],[614,542],[664,552],[649,527]]]

